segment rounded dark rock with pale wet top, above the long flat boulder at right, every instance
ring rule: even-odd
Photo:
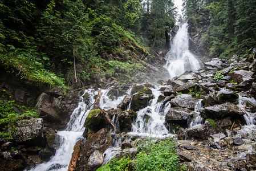
[[[221,104],[221,103],[225,103],[225,102],[235,103],[239,96],[234,91],[224,88],[224,89],[221,89],[221,91],[217,93],[216,97],[217,97],[218,103]]]

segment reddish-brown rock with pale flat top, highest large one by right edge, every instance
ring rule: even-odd
[[[242,82],[250,82],[254,80],[252,78],[253,72],[251,71],[245,71],[245,70],[239,70],[239,71],[234,71],[230,74],[231,79],[234,80],[235,83],[242,83]]]

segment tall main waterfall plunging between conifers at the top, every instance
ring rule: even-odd
[[[170,78],[180,76],[185,71],[196,71],[202,63],[189,51],[188,23],[184,23],[173,39],[171,48],[165,55],[165,68]]]

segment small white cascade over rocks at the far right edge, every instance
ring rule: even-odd
[[[253,115],[253,113],[250,113],[246,110],[246,107],[245,107],[246,103],[251,103],[256,106],[256,100],[249,97],[239,96],[238,105],[237,105],[244,112],[243,117],[245,118],[246,125],[255,127],[254,125],[255,119],[256,119],[255,115]]]

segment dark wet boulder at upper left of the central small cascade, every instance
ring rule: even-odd
[[[149,100],[153,99],[153,95],[146,95],[145,93],[137,93],[132,96],[131,109],[139,111],[148,106]]]

